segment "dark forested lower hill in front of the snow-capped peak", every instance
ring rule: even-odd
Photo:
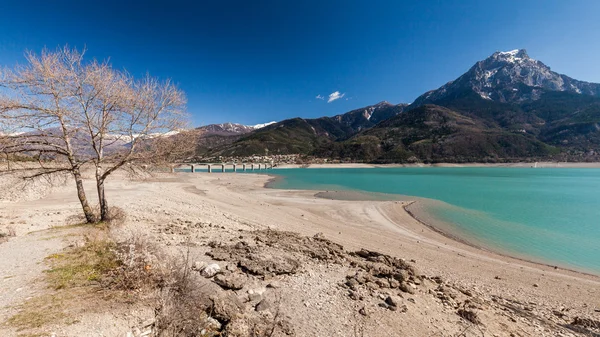
[[[473,162],[541,158],[553,148],[533,136],[493,128],[456,111],[424,105],[354,138],[323,146],[317,155],[354,161]]]

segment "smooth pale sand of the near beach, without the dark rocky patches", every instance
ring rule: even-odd
[[[447,287],[469,293],[470,303],[481,302],[477,310],[484,321],[486,336],[577,335],[562,329],[561,324],[580,316],[600,319],[597,276],[529,263],[452,240],[415,220],[404,209],[412,202],[410,199],[386,201],[350,194],[317,196],[323,191],[265,188],[269,179],[267,175],[230,173],[162,174],[145,181],[117,176],[108,182],[107,194],[109,202],[127,212],[127,228],[157,233],[152,234],[156,242],[168,247],[183,242],[183,234],[165,234],[161,228],[166,224],[175,219],[210,223],[210,228],[185,233],[195,240],[198,259],[206,259],[203,247],[210,241],[235,242],[241,232],[271,228],[310,237],[318,234],[348,251],[369,249],[413,261],[427,279],[439,277]],[[92,191],[93,182],[86,181],[86,186]],[[93,198],[93,193],[90,196]],[[10,256],[4,250],[19,247],[19,240],[32,244],[28,233],[62,224],[79,212],[69,185],[37,197],[40,198],[11,198],[10,202],[2,203],[0,230],[10,224],[17,236],[9,241],[11,245],[0,244],[0,256]],[[62,246],[49,247],[46,252],[51,254]],[[42,256],[38,254],[36,258]],[[14,312],[20,300],[40,291],[40,285],[34,281],[41,270],[14,277],[17,266],[11,263],[7,260],[0,264],[3,266],[0,285],[3,291],[22,295],[0,299],[0,321]],[[30,261],[28,265],[35,266],[36,262]],[[313,261],[306,262],[301,273],[281,279],[286,299],[282,310],[289,315],[297,333],[351,336],[356,322],[367,327],[371,332],[368,335],[373,336],[457,336],[469,329],[468,322],[457,316],[456,307],[441,299],[435,283],[424,282],[421,287],[425,288],[409,296],[410,301],[404,294],[408,311],[400,318],[399,313],[378,306],[377,301],[389,291],[371,290],[364,300],[349,299],[340,284],[351,270],[349,266]],[[239,293],[242,294],[245,292]],[[461,296],[467,295],[458,292],[455,300]],[[368,309],[365,317],[357,314],[361,306]],[[512,306],[518,310],[511,309]],[[91,319],[94,322],[99,314],[95,315]],[[89,326],[80,324],[63,327],[62,335],[77,335],[86,328]]]

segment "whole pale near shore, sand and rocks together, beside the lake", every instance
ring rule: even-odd
[[[108,186],[127,213],[115,239],[143,237],[189,268],[190,289],[201,293],[189,298],[206,312],[199,336],[600,336],[596,277],[442,250],[445,239],[422,236],[418,223],[392,231],[373,213],[379,202],[265,191],[264,177],[245,176],[121,177]],[[43,281],[46,257],[85,245],[85,227],[58,227],[78,214],[72,194],[67,185],[3,202],[0,335],[159,335],[164,318],[140,294],[81,294],[86,301],[61,307],[68,321],[7,323],[23,303],[57,293]]]

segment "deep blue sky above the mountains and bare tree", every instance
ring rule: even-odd
[[[86,46],[179,83],[194,125],[256,124],[410,103],[498,50],[600,82],[599,13],[596,0],[2,1],[0,64]]]

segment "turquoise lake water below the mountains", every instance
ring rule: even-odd
[[[270,187],[427,198],[428,221],[473,244],[600,274],[600,169],[275,169]],[[429,200],[432,199],[432,200]],[[421,218],[421,217],[419,217]]]

